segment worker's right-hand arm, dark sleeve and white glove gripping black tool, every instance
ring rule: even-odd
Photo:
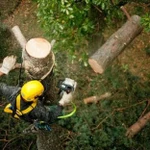
[[[66,78],[59,86],[61,89],[61,99],[59,104],[56,106],[45,107],[39,101],[38,105],[30,113],[30,117],[47,123],[53,123],[58,120],[58,117],[63,115],[63,108],[72,101],[76,85],[77,83],[74,80]]]

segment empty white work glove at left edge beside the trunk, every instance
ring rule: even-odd
[[[9,71],[11,71],[16,63],[17,57],[14,55],[7,56],[3,59],[2,67],[0,68],[0,71],[4,74],[8,74]]]

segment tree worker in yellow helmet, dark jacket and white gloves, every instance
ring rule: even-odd
[[[8,74],[14,68],[15,63],[15,56],[4,58],[0,76]],[[59,86],[61,98],[58,105],[51,108],[44,106],[40,101],[45,89],[38,80],[28,81],[22,87],[0,83],[0,96],[4,96],[9,101],[4,112],[11,114],[14,118],[23,119],[32,124],[36,123],[37,128],[40,122],[46,125],[51,124],[63,118],[62,110],[72,101],[76,85],[77,83],[70,78],[63,80]]]

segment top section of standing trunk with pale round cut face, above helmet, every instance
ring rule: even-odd
[[[29,40],[25,48],[25,71],[32,79],[43,80],[52,71],[55,57],[50,43],[43,38]]]

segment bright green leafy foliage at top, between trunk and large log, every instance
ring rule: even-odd
[[[54,52],[66,51],[68,57],[76,59],[79,53],[87,66],[87,39],[94,32],[101,32],[106,22],[112,22],[121,11],[110,0],[37,0],[39,22],[47,36],[56,39]],[[114,17],[115,16],[115,17]],[[80,48],[79,48],[80,47]],[[81,49],[82,47],[82,49]]]

